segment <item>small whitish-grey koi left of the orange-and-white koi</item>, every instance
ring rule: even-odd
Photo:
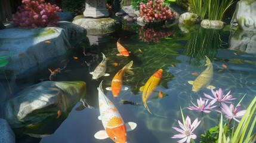
[[[90,74],[92,74],[92,79],[98,79],[101,76],[109,76],[108,73],[105,73],[107,70],[107,58],[102,52],[101,54],[103,55],[101,63],[98,64],[94,71],[90,72]]]

